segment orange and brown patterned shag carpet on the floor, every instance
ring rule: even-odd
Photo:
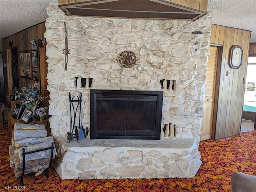
[[[226,139],[199,143],[202,165],[194,178],[160,179],[70,179],[61,180],[51,167],[49,178],[44,173],[24,176],[24,187],[9,166],[11,133],[1,126],[0,191],[29,192],[231,192],[231,175],[240,171],[256,175],[256,130]],[[12,189],[12,190],[11,190]]]

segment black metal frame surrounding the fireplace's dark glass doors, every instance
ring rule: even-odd
[[[99,100],[129,100],[129,101],[154,101],[154,133],[141,135],[118,134],[114,131],[114,135],[100,133],[97,131],[97,101]],[[162,121],[162,103],[163,91],[134,91],[134,90],[108,90],[108,89],[91,89],[90,90],[90,139],[151,139],[160,140],[161,121]],[[131,111],[132,112],[132,111]],[[152,125],[150,125],[152,126]]]

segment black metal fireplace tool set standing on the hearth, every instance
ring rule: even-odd
[[[81,139],[86,137],[85,129],[82,126],[82,110],[81,110],[81,102],[82,102],[82,93],[80,93],[79,97],[74,96],[71,98],[71,93],[69,93],[69,109],[70,109],[70,132],[68,134],[69,142],[73,140],[73,138],[77,139],[79,142]],[[76,125],[76,115],[79,113],[79,124]],[[68,142],[68,143],[69,143]]]

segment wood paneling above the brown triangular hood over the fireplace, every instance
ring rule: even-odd
[[[86,2],[86,1],[91,1],[91,0],[59,0],[59,5]],[[207,12],[208,0],[166,0],[166,1]]]

